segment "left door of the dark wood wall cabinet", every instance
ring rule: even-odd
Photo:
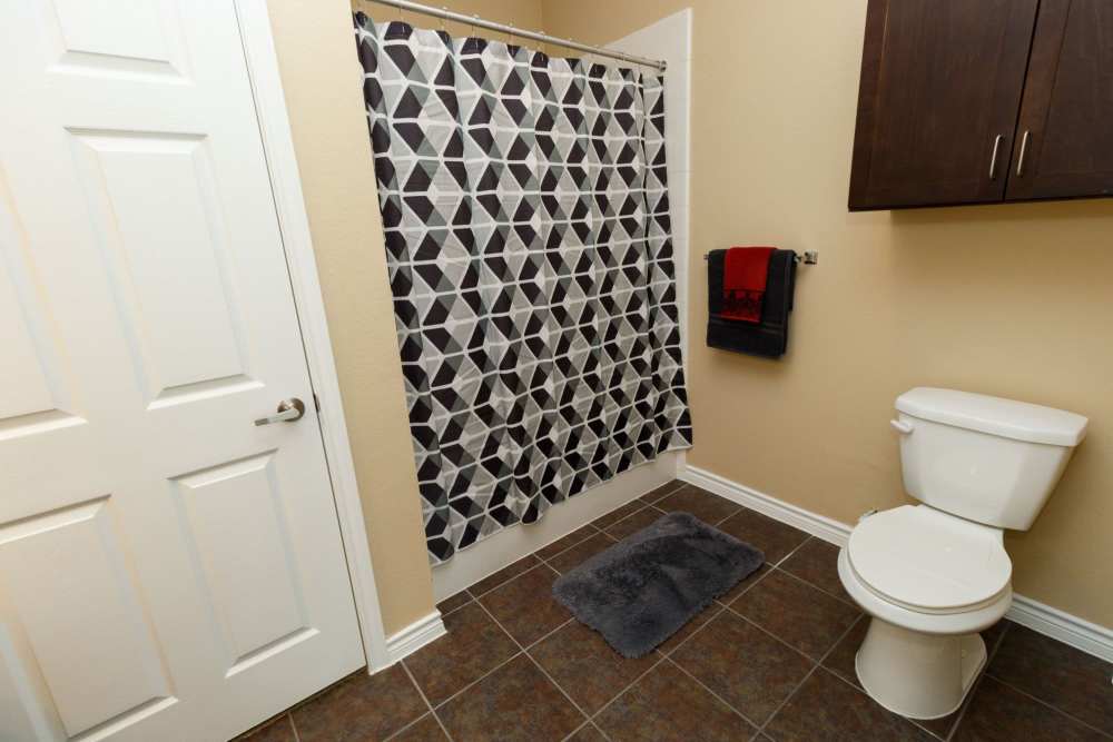
[[[1036,6],[870,0],[851,211],[1004,198]]]

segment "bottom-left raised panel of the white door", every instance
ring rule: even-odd
[[[13,631],[26,637],[69,736],[177,702],[140,604],[110,496],[0,528]],[[97,667],[99,682],[73,667]],[[30,670],[21,669],[24,673]]]

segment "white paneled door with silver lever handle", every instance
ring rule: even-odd
[[[0,740],[225,739],[363,664],[234,3],[0,8]]]

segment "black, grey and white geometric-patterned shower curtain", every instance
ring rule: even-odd
[[[430,558],[691,445],[657,75],[355,14]]]

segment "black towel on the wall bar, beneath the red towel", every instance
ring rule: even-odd
[[[726,250],[711,250],[707,256],[708,347],[779,358],[788,347],[788,314],[792,310],[796,287],[796,253],[775,250],[769,257],[769,279],[761,306],[761,321],[757,325],[716,316],[722,310],[722,261],[726,255]]]

